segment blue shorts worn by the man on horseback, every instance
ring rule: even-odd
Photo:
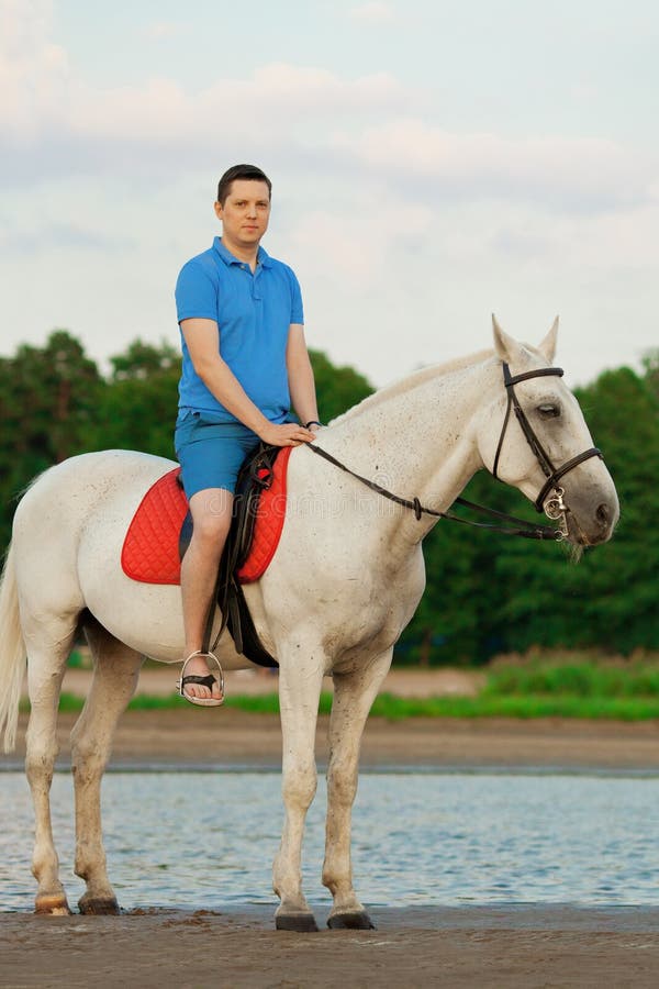
[[[259,442],[241,422],[217,422],[212,412],[181,409],[174,446],[188,500],[206,488],[235,491],[243,460]]]

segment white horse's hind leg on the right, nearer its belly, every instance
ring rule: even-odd
[[[94,657],[94,673],[82,713],[71,732],[71,765],[76,791],[76,874],[87,890],[81,913],[119,913],[108,879],[101,831],[101,778],[110,757],[120,715],[135,692],[144,657],[97,623],[85,625]]]

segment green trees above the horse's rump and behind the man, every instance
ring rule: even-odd
[[[372,391],[350,367],[311,353],[324,422]],[[180,354],[135,340],[101,376],[78,341],[56,330],[44,347],[0,358],[0,546],[9,543],[20,492],[53,464],[93,449],[142,449],[174,457]]]

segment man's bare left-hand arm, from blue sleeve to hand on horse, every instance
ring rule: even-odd
[[[209,391],[232,415],[253,430],[265,443],[297,446],[313,440],[313,434],[294,423],[278,425],[263,414],[245,392],[228,365],[220,356],[220,330],[214,320],[181,320],[192,366]],[[308,422],[308,420],[304,420]]]

